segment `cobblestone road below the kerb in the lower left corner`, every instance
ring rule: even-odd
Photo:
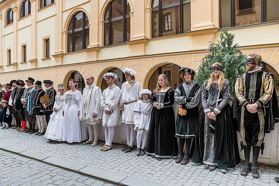
[[[97,179],[0,150],[1,186],[113,186]]]

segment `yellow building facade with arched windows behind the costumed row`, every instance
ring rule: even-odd
[[[93,75],[104,90],[104,73],[117,73],[121,87],[121,69],[129,67],[143,88],[153,89],[160,73],[175,88],[178,69],[197,69],[208,42],[229,27],[243,53],[262,55],[279,91],[278,14],[277,0],[2,0],[0,83],[33,77],[66,86],[76,79],[81,91]],[[278,132],[267,135],[260,161],[279,161],[272,148]]]

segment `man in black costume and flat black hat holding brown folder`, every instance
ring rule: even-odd
[[[45,108],[46,121],[47,121],[47,125],[48,125],[48,122],[50,120],[50,115],[53,112],[52,109],[53,109],[53,105],[55,102],[56,91],[53,88],[53,82],[51,80],[43,80],[43,84],[45,84],[46,95],[48,95],[49,100],[50,100],[48,103],[43,104],[43,107]]]

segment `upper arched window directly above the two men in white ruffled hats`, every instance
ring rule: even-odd
[[[104,45],[130,41],[130,5],[127,0],[113,0],[105,12]]]

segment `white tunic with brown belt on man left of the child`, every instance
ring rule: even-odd
[[[126,81],[122,84],[121,87],[121,103],[124,104],[124,110],[122,111],[121,120],[126,124],[134,124],[134,115],[133,112],[136,101],[139,100],[139,93],[142,91],[142,86],[139,82],[131,80],[130,82]],[[135,101],[133,103],[130,103]]]

